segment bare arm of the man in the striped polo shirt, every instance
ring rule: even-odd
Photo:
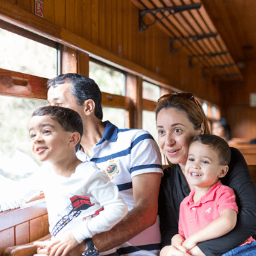
[[[161,173],[144,173],[133,177],[136,206],[110,231],[93,236],[93,242],[99,251],[107,251],[123,244],[156,223],[161,176]]]

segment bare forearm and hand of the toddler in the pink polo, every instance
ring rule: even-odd
[[[183,242],[182,246],[189,251],[200,242],[224,236],[236,226],[236,215],[237,212],[234,209],[225,209],[221,212],[220,217],[192,234]]]

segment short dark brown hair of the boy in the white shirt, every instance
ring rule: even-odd
[[[32,117],[33,116],[49,116],[54,121],[58,122],[64,131],[70,131],[72,133],[77,131],[81,138],[83,136],[83,121],[75,110],[60,106],[43,106],[37,108],[37,110],[33,112]],[[79,149],[81,138],[75,145],[76,151]]]

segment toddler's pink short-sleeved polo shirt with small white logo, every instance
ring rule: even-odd
[[[213,184],[196,203],[193,201],[194,194],[195,189],[184,198],[180,206],[179,234],[183,234],[185,238],[217,219],[224,209],[238,212],[234,191],[221,181]]]

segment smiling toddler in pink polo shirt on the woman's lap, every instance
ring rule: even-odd
[[[219,181],[228,171],[230,148],[215,135],[198,135],[190,142],[186,162],[186,178],[194,189],[180,206],[179,234],[172,245],[190,249],[199,242],[224,236],[236,226],[238,207],[232,188]],[[254,241],[249,238],[246,242]],[[224,252],[223,252],[224,253]]]

